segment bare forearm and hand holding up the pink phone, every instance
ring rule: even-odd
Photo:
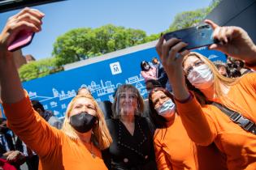
[[[7,46],[11,44],[11,41],[21,30],[41,31],[43,16],[40,11],[25,8],[17,15],[9,18],[2,30],[0,35],[0,84],[3,103],[11,104],[24,98],[24,91],[15,67],[13,53],[8,52]]]

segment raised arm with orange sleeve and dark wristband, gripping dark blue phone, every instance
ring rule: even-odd
[[[182,53],[178,53],[178,51],[183,49],[186,45],[186,43],[176,38],[164,42],[162,36],[158,41],[156,49],[162,60],[169,82],[171,83],[176,98],[176,107],[189,137],[194,142],[208,145],[210,142],[213,142],[215,138],[215,125],[212,125],[212,122],[208,121],[206,115],[202,112],[201,105],[197,103],[197,100],[191,97],[186,87],[182,62],[184,56],[188,54],[189,51],[185,50]]]

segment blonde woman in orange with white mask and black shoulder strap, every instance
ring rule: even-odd
[[[220,42],[210,45],[210,49],[218,49],[245,61],[250,68],[256,68],[256,46],[247,32],[237,27],[219,27],[210,20],[206,23],[214,29],[213,37]],[[157,51],[189,137],[204,146],[215,142],[227,155],[228,169],[255,169],[256,74],[245,74],[238,79],[225,78],[201,54],[188,50],[177,54],[185,46],[186,43],[176,38],[164,43],[162,37]],[[228,117],[227,111],[215,107],[213,102],[236,113]]]

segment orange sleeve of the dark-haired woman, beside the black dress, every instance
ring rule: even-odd
[[[161,143],[158,142],[157,139],[154,140],[154,153],[155,153],[155,160],[158,165],[158,170],[171,170],[171,163],[166,153],[163,151]]]

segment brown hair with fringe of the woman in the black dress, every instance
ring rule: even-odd
[[[126,92],[126,91],[132,91],[137,95],[137,115],[141,116],[143,111],[144,111],[144,101],[141,97],[140,92],[138,89],[131,84],[124,84],[118,87],[117,91],[115,92],[115,100],[114,103],[112,104],[112,112],[113,112],[113,118],[119,119],[120,114],[118,110],[118,96],[119,93]]]

